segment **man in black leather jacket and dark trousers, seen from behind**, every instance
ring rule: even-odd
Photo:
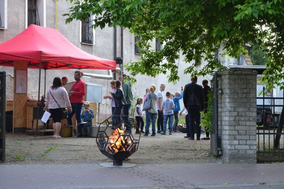
[[[200,125],[200,111],[204,111],[204,93],[202,86],[197,84],[197,76],[191,78],[191,83],[184,87],[183,104],[187,109],[187,116],[189,119],[189,140],[194,140],[194,121],[196,122],[196,138],[200,140],[201,128]]]

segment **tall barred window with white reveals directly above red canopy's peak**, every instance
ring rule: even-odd
[[[26,28],[31,24],[46,26],[46,0],[26,0]]]

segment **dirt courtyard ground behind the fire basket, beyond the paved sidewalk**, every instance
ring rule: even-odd
[[[134,133],[133,133],[134,134]],[[135,135],[135,134],[134,134]],[[129,163],[212,162],[210,140],[188,140],[186,133],[141,135],[138,150]],[[205,135],[202,134],[201,138]],[[137,134],[135,135],[137,137]],[[61,138],[6,133],[4,163],[111,162],[98,149],[96,138]]]

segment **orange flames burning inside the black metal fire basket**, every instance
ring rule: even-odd
[[[108,150],[112,153],[117,153],[119,151],[126,151],[131,144],[130,136],[124,135],[124,130],[116,128],[109,137],[110,145]]]

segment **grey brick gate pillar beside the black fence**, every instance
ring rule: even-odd
[[[218,135],[222,160],[256,163],[256,71],[218,73]]]

